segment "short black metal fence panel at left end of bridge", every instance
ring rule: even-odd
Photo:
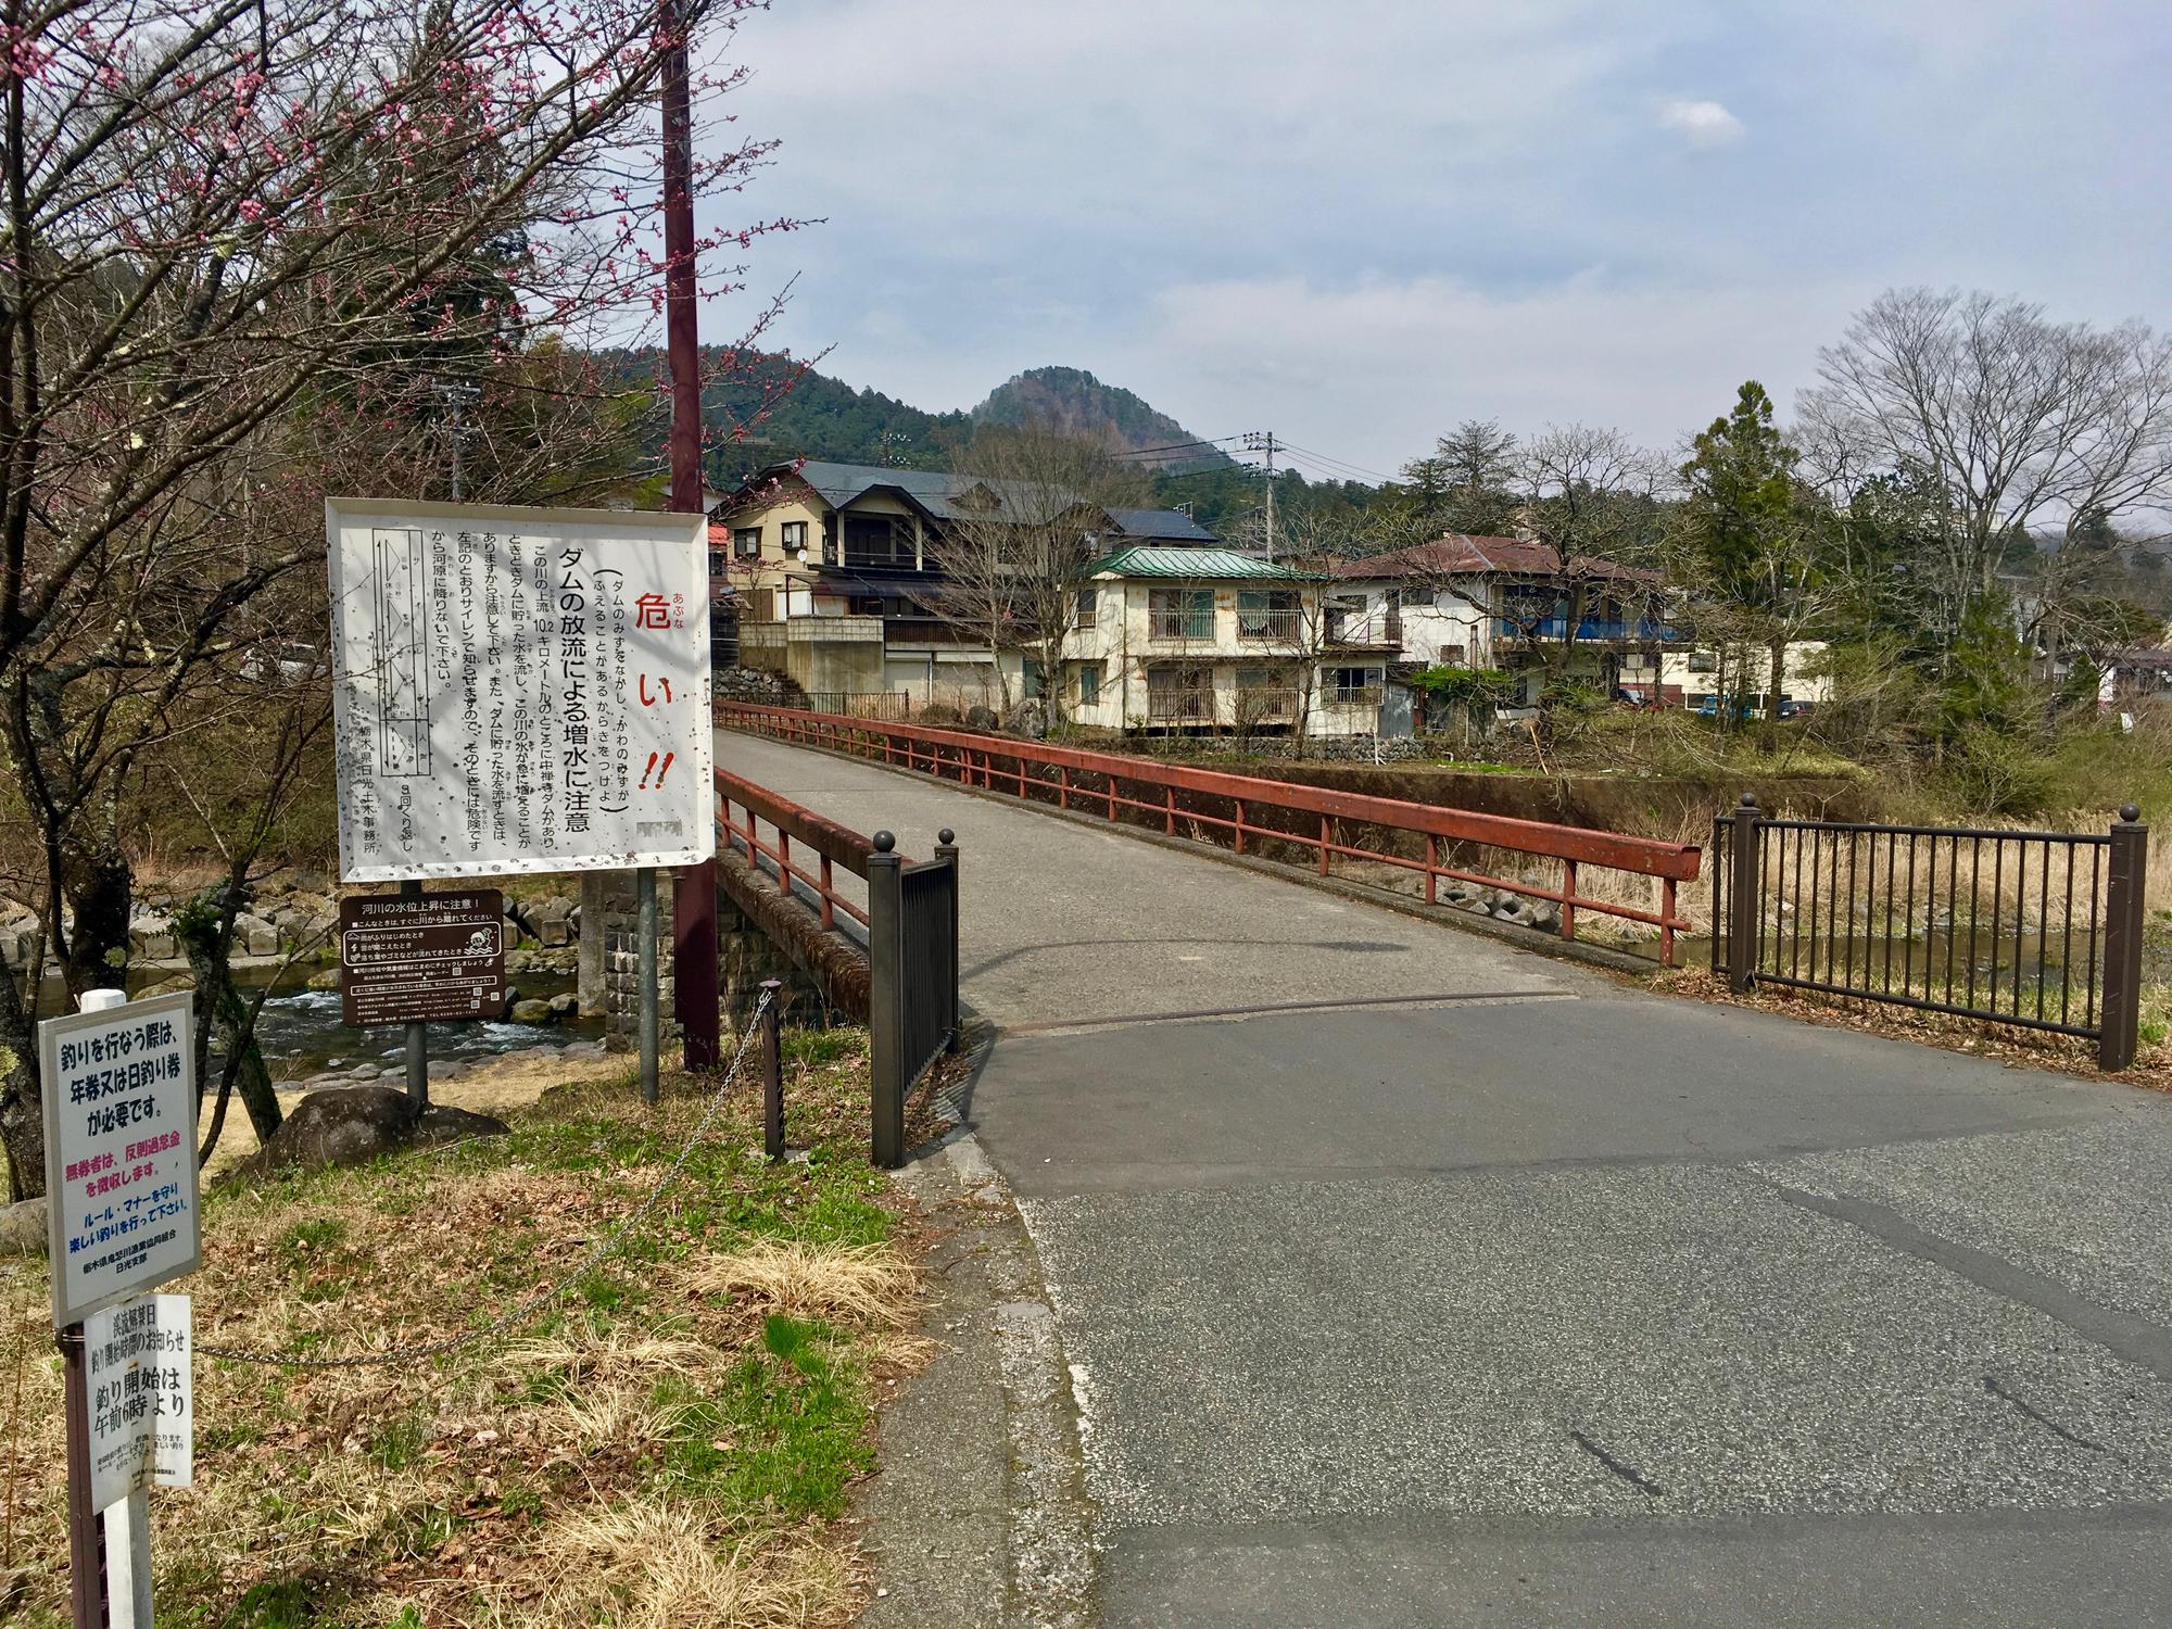
[[[875,832],[867,858],[869,1030],[875,1073],[875,1164],[906,1162],[906,1095],[958,1045],[958,845],[908,864]]]

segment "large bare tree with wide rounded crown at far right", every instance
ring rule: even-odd
[[[1914,576],[1942,645],[1992,586],[2005,539],[2172,493],[2172,339],[2139,321],[1892,289],[1818,354],[1818,378],[1801,404],[1814,467],[1898,473],[1933,500]]]

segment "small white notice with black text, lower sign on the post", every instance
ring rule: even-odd
[[[83,1321],[91,1510],[195,1486],[195,1371],[185,1295],[139,1295]]]

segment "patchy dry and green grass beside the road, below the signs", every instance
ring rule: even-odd
[[[337,1355],[437,1340],[576,1266],[686,1145],[708,1088],[645,1110],[558,1086],[510,1138],[209,1195],[198,1338]],[[864,1160],[864,1032],[786,1036],[804,1162],[732,1101],[623,1251],[504,1338],[397,1368],[198,1358],[195,1488],[152,1497],[159,1618],[725,1625],[849,1618],[836,1525],[873,1403],[919,1342],[914,1268]],[[0,1262],[7,1599],[65,1620],[61,1381],[43,1262]]]

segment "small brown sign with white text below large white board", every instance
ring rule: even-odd
[[[374,1025],[504,1016],[504,921],[497,888],[341,899],[341,1019]]]

